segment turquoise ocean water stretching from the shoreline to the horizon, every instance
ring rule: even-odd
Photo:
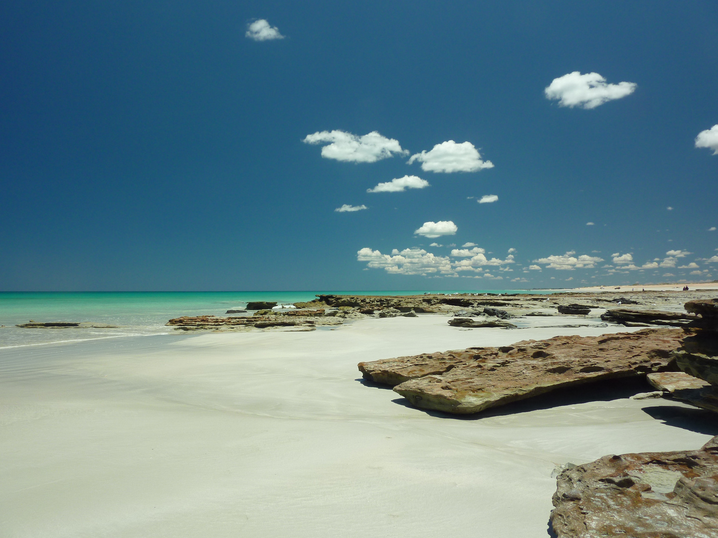
[[[556,290],[530,293],[555,293]],[[174,334],[164,324],[179,316],[243,308],[249,301],[296,303],[320,293],[341,295],[421,295],[422,293],[528,293],[526,290],[470,291],[203,291],[203,292],[1,292],[0,349],[93,339]],[[20,329],[34,321],[93,321],[118,329]]]

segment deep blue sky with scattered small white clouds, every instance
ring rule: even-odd
[[[9,0],[0,29],[1,290],[718,278],[714,1]]]

